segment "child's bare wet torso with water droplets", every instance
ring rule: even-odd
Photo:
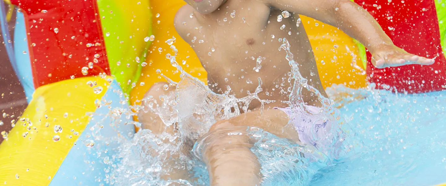
[[[176,28],[206,69],[213,91],[223,93],[230,86],[236,97],[244,97],[247,91],[256,90],[260,77],[260,99],[276,100],[271,107],[286,107],[281,101],[288,100],[293,81],[286,53],[278,50],[284,37],[301,65],[302,76],[319,91],[323,89],[305,29],[296,25],[299,16],[291,14],[279,22],[281,14],[255,0],[228,0],[206,15],[186,5],[177,13]],[[251,109],[259,106],[258,102],[250,104]]]

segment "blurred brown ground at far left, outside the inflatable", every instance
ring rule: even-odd
[[[15,14],[12,17],[8,23],[11,34],[14,32]],[[3,44],[3,37],[0,37],[0,43],[2,43],[0,45],[0,121],[3,122],[3,125],[0,126],[0,132],[2,132],[11,130],[11,120],[17,120],[17,117],[21,116],[28,103],[25,99],[25,92],[9,62],[8,54]],[[6,117],[3,117],[4,113],[6,113]],[[1,141],[3,141],[3,137],[0,135],[0,143]]]

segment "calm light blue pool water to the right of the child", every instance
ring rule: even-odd
[[[310,186],[432,186],[446,182],[446,91],[366,92],[341,115],[363,140],[359,154],[322,168]]]

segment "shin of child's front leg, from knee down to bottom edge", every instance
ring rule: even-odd
[[[211,186],[259,186],[260,164],[250,148],[247,127],[225,127],[211,132],[203,141],[203,159]],[[234,133],[234,135],[228,135]]]

